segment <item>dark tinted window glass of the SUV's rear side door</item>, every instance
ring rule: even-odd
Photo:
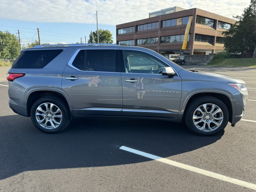
[[[116,72],[116,50],[80,50],[72,65],[83,71]]]

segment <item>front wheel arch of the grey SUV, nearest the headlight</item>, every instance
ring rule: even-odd
[[[230,96],[230,94],[228,94],[226,92],[223,92],[223,91],[212,92],[212,90],[200,90],[200,91],[192,92],[191,94],[189,94],[188,97],[183,102],[182,107],[180,109],[180,112],[183,113],[183,118],[186,114],[187,106],[189,106],[189,104],[191,102],[193,102],[193,100],[195,98],[198,98],[200,96],[212,96],[212,97],[218,98],[219,100],[224,102],[224,104],[228,108],[228,112],[229,112],[229,120],[228,121],[232,122],[233,111],[235,110],[233,98]]]

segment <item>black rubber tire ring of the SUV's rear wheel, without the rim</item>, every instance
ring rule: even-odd
[[[38,108],[38,106],[40,106],[43,103],[52,103],[60,109],[60,111],[62,113],[62,121],[57,128],[46,129],[38,124],[38,122],[36,120],[36,109]],[[70,122],[70,114],[68,112],[66,105],[63,104],[62,100],[57,100],[56,98],[51,98],[51,97],[43,97],[43,98],[40,98],[39,100],[37,100],[31,108],[30,116],[31,116],[31,120],[32,120],[34,126],[36,126],[36,128],[38,128],[40,131],[45,132],[45,133],[60,132],[60,131],[64,130]]]

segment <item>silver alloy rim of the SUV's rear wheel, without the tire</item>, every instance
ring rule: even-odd
[[[36,108],[36,120],[45,129],[55,129],[62,121],[62,112],[52,103],[43,103]]]

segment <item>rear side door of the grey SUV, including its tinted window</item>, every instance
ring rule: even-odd
[[[63,72],[62,90],[77,116],[122,114],[119,50],[78,50]]]

